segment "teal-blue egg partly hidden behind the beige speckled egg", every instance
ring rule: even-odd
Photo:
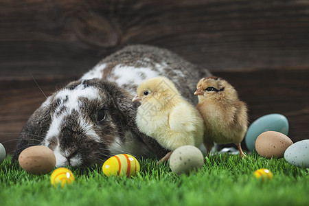
[[[255,150],[255,140],[266,131],[276,131],[288,135],[288,119],[284,115],[269,114],[256,119],[248,128],[244,141],[248,150]]]

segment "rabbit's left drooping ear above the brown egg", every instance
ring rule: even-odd
[[[21,134],[17,139],[16,148],[12,161],[17,161],[19,154],[30,146],[40,145],[44,141],[44,137],[49,128],[51,122],[51,102],[52,96],[47,98],[43,104],[34,111],[34,113],[27,120],[27,123],[23,126]]]

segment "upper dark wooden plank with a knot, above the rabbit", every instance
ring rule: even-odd
[[[211,71],[307,68],[309,1],[0,1],[0,78],[81,75],[123,45]]]

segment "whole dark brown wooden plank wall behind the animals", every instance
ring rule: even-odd
[[[171,49],[226,78],[250,122],[282,113],[309,138],[309,1],[0,0],[0,142],[46,95],[124,45]]]

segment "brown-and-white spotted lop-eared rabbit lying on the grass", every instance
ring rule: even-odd
[[[102,165],[119,153],[163,157],[169,151],[139,132],[135,117],[140,103],[131,101],[139,83],[155,76],[169,78],[186,100],[197,104],[192,92],[196,79],[211,73],[167,49],[126,46],[34,111],[21,130],[12,161],[34,145],[53,150],[56,167]]]

